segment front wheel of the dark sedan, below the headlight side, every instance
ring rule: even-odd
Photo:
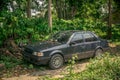
[[[58,69],[63,66],[64,60],[60,54],[55,54],[49,61],[49,67],[51,69]]]

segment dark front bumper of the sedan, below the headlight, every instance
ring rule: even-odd
[[[37,65],[45,65],[49,61],[49,57],[39,57],[39,56],[34,56],[30,53],[23,52],[23,58],[33,64]]]

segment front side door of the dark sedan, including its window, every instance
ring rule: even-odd
[[[70,46],[73,48],[73,54],[77,55],[78,59],[84,58],[84,40],[82,33],[75,33],[70,41]]]

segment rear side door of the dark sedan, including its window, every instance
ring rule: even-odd
[[[90,32],[83,33],[83,37],[85,41],[85,57],[92,57],[100,41]]]

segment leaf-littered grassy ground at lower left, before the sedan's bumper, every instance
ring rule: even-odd
[[[33,65],[23,59],[17,59],[10,56],[2,55],[0,57],[0,64],[4,64],[4,69],[0,71],[0,77],[12,77],[19,76],[27,73],[31,73],[35,70],[45,70],[46,67],[40,67]]]

